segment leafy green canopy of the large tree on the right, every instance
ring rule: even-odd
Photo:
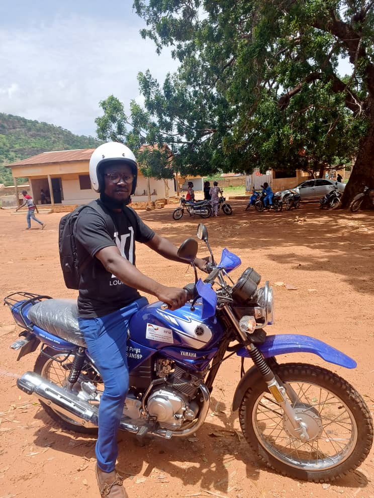
[[[147,23],[142,36],[157,51],[171,46],[180,62],[163,85],[139,74],[150,126],[143,137],[167,143],[175,167],[191,174],[315,173],[357,155],[356,168],[368,175],[372,7],[371,0],[135,0]],[[339,57],[354,65],[350,76],[339,75]]]

